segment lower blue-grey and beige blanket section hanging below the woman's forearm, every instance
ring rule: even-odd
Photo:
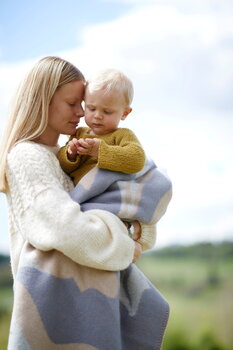
[[[101,271],[25,243],[8,350],[159,350],[168,314],[134,264]]]

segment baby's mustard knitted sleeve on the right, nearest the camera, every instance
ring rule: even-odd
[[[101,140],[98,163],[99,168],[134,174],[145,165],[145,153],[135,134],[129,129],[118,129],[115,145]]]

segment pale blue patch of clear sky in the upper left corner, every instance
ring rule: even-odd
[[[0,60],[18,60],[73,49],[90,24],[117,18],[130,5],[99,0],[9,0],[0,4]]]

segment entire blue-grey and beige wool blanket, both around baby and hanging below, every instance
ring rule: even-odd
[[[71,196],[83,210],[156,223],[170,201],[171,182],[148,160],[135,175],[94,168]],[[25,243],[8,350],[159,350],[168,314],[167,301],[134,264],[100,271]]]

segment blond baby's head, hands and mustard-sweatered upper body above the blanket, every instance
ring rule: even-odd
[[[142,170],[145,153],[135,134],[118,128],[132,111],[133,85],[125,74],[101,71],[87,82],[85,122],[58,153],[62,169],[74,184],[93,167],[134,174]]]

